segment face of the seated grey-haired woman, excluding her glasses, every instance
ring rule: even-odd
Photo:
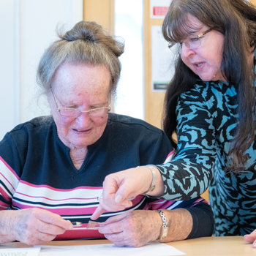
[[[110,104],[110,72],[104,66],[64,64],[59,67],[53,83],[53,94],[59,108],[92,110]],[[100,116],[82,112],[80,116],[61,116],[56,111],[53,94],[48,102],[59,138],[69,148],[86,148],[102,136],[108,121],[108,109]]]

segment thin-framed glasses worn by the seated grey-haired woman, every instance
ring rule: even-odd
[[[53,94],[53,90],[51,90],[51,92]],[[94,118],[94,117],[97,118],[104,115],[106,113],[106,109],[108,109],[108,112],[111,110],[111,105],[108,105],[108,108],[93,108],[91,110],[84,110],[84,111],[79,110],[77,108],[59,108],[54,94],[53,94],[53,99],[55,101],[57,111],[60,113],[61,116],[65,116],[65,117],[77,118],[78,116],[80,116],[82,112],[86,112],[89,114],[91,118]]]

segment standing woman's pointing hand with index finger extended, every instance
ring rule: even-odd
[[[131,207],[132,202],[128,199],[148,190],[151,179],[152,175],[148,167],[131,168],[106,176],[102,199],[99,200],[99,206],[91,219],[98,219],[105,210],[122,211]]]

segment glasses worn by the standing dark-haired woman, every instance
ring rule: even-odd
[[[210,32],[212,29],[208,29],[200,34],[197,34],[195,37],[190,37],[187,39],[189,42],[170,42],[168,44],[168,48],[175,54],[178,54],[181,52],[182,45],[186,45],[189,49],[195,49],[200,47],[201,40],[200,38],[206,35],[208,32]]]

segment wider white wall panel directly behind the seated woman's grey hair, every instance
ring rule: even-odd
[[[37,106],[39,59],[57,39],[57,25],[71,29],[82,19],[82,0],[20,1],[20,122],[50,113],[47,102],[40,100]]]

